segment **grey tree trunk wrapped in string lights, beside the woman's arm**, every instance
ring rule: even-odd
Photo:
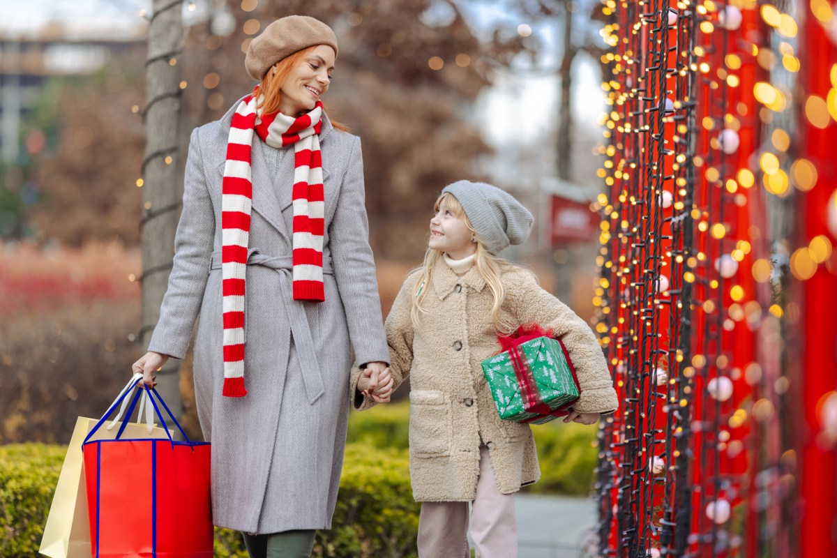
[[[174,255],[174,233],[181,189],[177,128],[180,121],[182,2],[154,0],[148,28],[146,60],[146,150],[142,161],[142,329],[140,342],[148,346],[160,318]],[[175,64],[172,64],[175,61]],[[177,385],[179,361],[172,359],[157,376],[157,391],[175,415],[182,403]]]

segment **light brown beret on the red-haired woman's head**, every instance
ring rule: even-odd
[[[250,41],[244,67],[255,79],[264,78],[267,70],[281,59],[302,49],[327,44],[337,54],[334,31],[319,19],[309,16],[287,16],[270,23],[258,37]]]

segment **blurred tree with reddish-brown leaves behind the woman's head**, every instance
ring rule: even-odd
[[[524,48],[521,37],[496,33],[481,42],[454,2],[230,1],[189,29],[184,79],[198,84],[184,97],[191,125],[218,118],[252,89],[242,64],[250,39],[292,13],[319,18],[337,34],[325,102],[363,141],[372,248],[385,259],[415,261],[439,190],[461,177],[487,178],[473,168],[489,148],[472,105],[490,85],[491,64],[509,64]]]

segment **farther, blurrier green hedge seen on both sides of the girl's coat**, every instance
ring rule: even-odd
[[[349,417],[349,442],[375,448],[408,447],[409,405],[407,402],[377,405]],[[598,427],[560,418],[531,427],[541,463],[541,480],[524,489],[537,494],[587,495],[596,467]]]

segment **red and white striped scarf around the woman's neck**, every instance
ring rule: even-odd
[[[293,144],[293,296],[295,300],[326,299],[322,283],[324,206],[320,131],[322,104],[293,118],[280,112],[259,114],[259,88],[239,103],[227,141],[223,167],[221,228],[223,229],[223,395],[244,397],[244,281],[250,211],[253,200],[250,166],[253,131],[272,147]]]

